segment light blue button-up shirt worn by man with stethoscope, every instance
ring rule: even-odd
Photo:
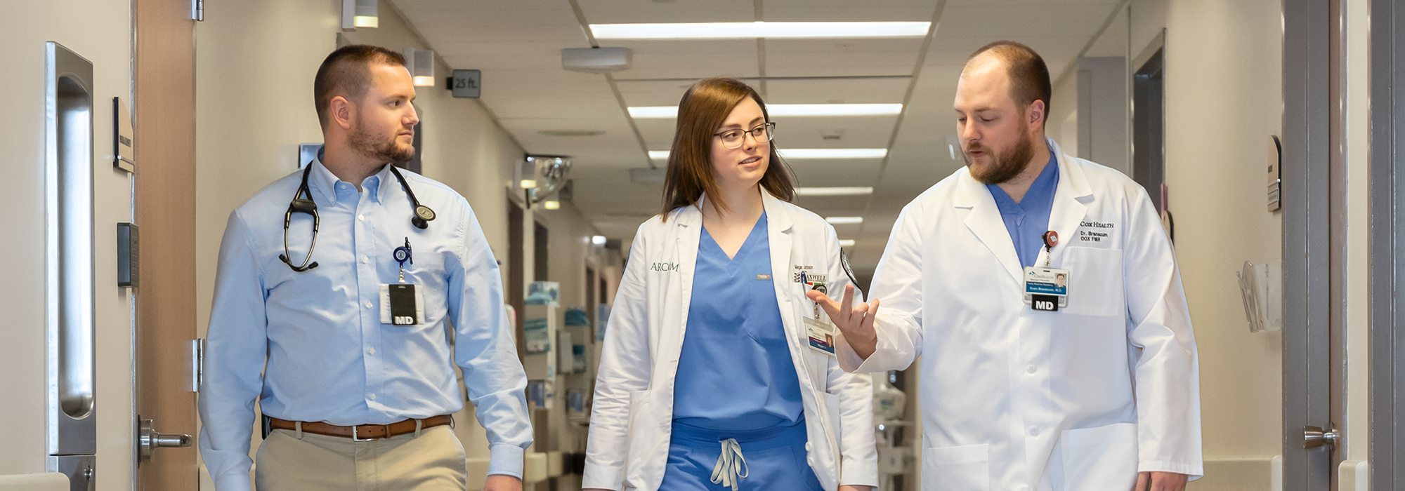
[[[452,414],[464,407],[455,365],[488,431],[489,474],[521,477],[532,442],[527,376],[497,262],[468,201],[402,171],[438,215],[422,230],[410,224],[413,208],[389,167],[358,192],[320,161],[311,166],[318,268],[295,272],[278,260],[301,170],[259,191],[225,227],[200,391],[200,448],[216,490],[250,488],[256,400],[271,417],[334,425]],[[382,324],[381,285],[398,282],[392,251],[406,238],[413,264],[405,265],[405,281],[423,293],[424,316],[416,325]],[[301,264],[312,217],[294,215],[287,240]]]

